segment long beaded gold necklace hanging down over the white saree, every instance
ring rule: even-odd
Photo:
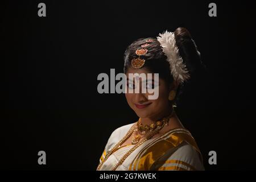
[[[174,114],[174,110],[172,110],[171,115],[168,118],[171,118],[172,115]],[[168,120],[165,120],[165,122]],[[136,148],[138,148],[139,146],[141,146],[141,144],[143,144],[144,142],[146,142],[146,140],[150,139],[151,137],[153,137],[156,133],[159,133],[159,131],[162,129],[164,125],[160,126],[160,127],[156,127],[153,130],[150,130],[146,136],[141,140],[141,142],[135,144],[129,151],[126,152],[125,155],[122,156],[122,158],[118,161],[117,164],[115,164],[114,168],[111,171],[115,171],[115,169],[117,169],[117,167],[119,165],[121,165],[125,159],[131,154],[131,152],[133,152]],[[99,164],[99,166],[97,167],[97,171],[100,170],[100,168],[102,167],[102,165],[106,162],[106,160],[109,158],[110,155],[112,155],[115,151],[118,150],[118,148],[121,146],[121,144],[123,142],[125,142],[130,136],[131,134],[133,134],[134,130],[136,129],[136,127],[131,128],[128,133],[125,135],[125,137],[123,137],[117,144],[115,144],[115,146],[112,148],[112,150],[110,150],[108,152],[108,154],[105,156],[104,160]]]

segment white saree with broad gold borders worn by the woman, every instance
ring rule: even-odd
[[[105,150],[100,158],[100,163],[106,154],[125,137],[134,123],[119,127],[113,131]],[[100,170],[109,171],[134,145],[127,145],[115,151],[102,165]],[[146,170],[204,170],[203,158],[197,147],[195,139],[188,130],[174,129],[166,134],[146,140],[136,148],[125,161],[118,166],[117,171],[146,171]]]

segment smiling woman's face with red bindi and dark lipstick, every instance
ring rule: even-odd
[[[157,117],[158,114],[163,113],[163,111],[166,111],[167,109],[170,109],[169,101],[168,101],[168,96],[170,92],[169,86],[166,84],[166,82],[162,79],[159,78],[158,82],[154,80],[154,74],[152,74],[152,79],[149,79],[147,77],[146,80],[146,88],[147,89],[152,89],[152,85],[155,83],[155,89],[158,89],[158,98],[155,100],[148,100],[148,96],[152,95],[154,93],[142,93],[142,87],[143,84],[141,78],[139,78],[139,93],[131,93],[128,90],[135,90],[135,81],[136,79],[129,80],[129,73],[151,73],[149,72],[146,68],[141,68],[141,69],[134,69],[134,68],[128,68],[126,77],[127,77],[127,92],[125,94],[126,100],[131,107],[135,111],[135,113],[138,115],[138,117],[141,118],[154,118]],[[138,85],[137,85],[138,86]],[[135,91],[134,91],[135,92]]]

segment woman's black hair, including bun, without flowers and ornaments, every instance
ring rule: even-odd
[[[204,64],[201,62],[200,52],[197,50],[196,44],[186,28],[177,28],[174,31],[174,35],[176,46],[179,48],[179,54],[192,78],[197,71],[205,68]],[[127,69],[131,67],[131,60],[138,57],[135,51],[141,49],[142,44],[145,44],[148,39],[152,39],[153,42],[149,43],[150,46],[147,47],[148,52],[141,56],[142,59],[146,60],[142,68],[146,68],[152,73],[159,73],[159,77],[166,81],[167,85],[170,85],[174,81],[170,71],[170,64],[156,38],[141,38],[131,43],[125,51],[125,65],[123,70],[125,73],[127,72]],[[185,82],[189,82],[189,80]],[[176,100],[181,94],[184,84],[178,86]]]

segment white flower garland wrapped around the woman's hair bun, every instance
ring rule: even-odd
[[[159,34],[157,40],[163,49],[164,55],[167,56],[172,77],[174,77],[178,84],[182,84],[190,78],[190,75],[186,65],[183,63],[182,57],[179,55],[174,32],[166,31],[163,34]]]

